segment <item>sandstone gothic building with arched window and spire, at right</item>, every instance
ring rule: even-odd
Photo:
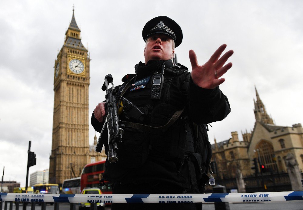
[[[275,125],[262,103],[257,89],[255,104],[255,126],[251,132],[242,134],[239,141],[238,132],[231,132],[231,138],[212,144],[212,161],[216,162],[218,178],[235,178],[239,169],[243,176],[254,174],[253,159],[268,171],[286,172],[285,158],[293,154],[299,169],[303,170],[303,129],[301,124],[292,127]],[[258,165],[257,167],[260,167]]]

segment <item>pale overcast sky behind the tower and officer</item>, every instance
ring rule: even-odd
[[[223,43],[232,68],[220,89],[231,113],[208,132],[211,143],[232,131],[252,130],[255,86],[277,125],[303,122],[303,1],[1,1],[0,173],[25,186],[28,141],[37,154],[29,174],[49,168],[54,104],[54,63],[72,19],[90,53],[89,113],[104,100],[104,76],[119,85],[144,61],[142,28],[160,15],[178,22],[178,62],[191,69],[188,51],[204,64]],[[225,52],[226,52],[225,51]],[[198,97],[198,96],[197,96]],[[89,142],[95,131],[90,125]],[[98,134],[97,134],[98,136]]]

